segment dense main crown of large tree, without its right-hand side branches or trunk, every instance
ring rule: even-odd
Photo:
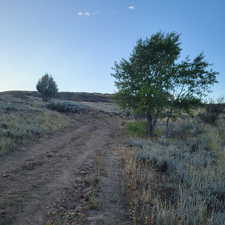
[[[123,106],[147,113],[162,108],[170,85],[166,71],[180,52],[178,40],[175,33],[157,33],[145,41],[139,40],[129,60],[115,63],[113,77]]]

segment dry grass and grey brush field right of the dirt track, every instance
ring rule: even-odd
[[[132,225],[224,225],[224,120],[172,125],[170,138],[121,149]]]

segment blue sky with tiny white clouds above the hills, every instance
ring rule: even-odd
[[[114,92],[114,61],[139,38],[181,33],[183,56],[204,52],[225,95],[225,0],[0,0],[0,91],[34,90],[51,73],[61,91]]]

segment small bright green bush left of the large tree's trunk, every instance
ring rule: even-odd
[[[127,124],[128,133],[135,137],[144,137],[146,135],[147,123],[145,121],[129,122]]]

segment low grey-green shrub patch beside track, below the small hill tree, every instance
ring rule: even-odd
[[[51,102],[47,105],[47,108],[55,110],[57,112],[80,113],[87,110],[88,107],[82,104],[66,101],[66,102]]]

